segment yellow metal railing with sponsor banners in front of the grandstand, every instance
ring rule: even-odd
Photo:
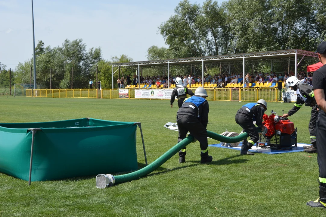
[[[143,89],[143,88],[141,88]],[[151,88],[154,89],[154,88]],[[189,88],[195,92],[196,88]],[[278,91],[275,87],[224,87],[205,88],[209,101],[258,101],[264,99],[268,102],[277,102]],[[26,97],[52,97],[52,98],[102,98],[102,99],[137,99],[135,91],[138,89],[27,89]],[[156,89],[161,90],[161,89]],[[164,89],[163,89],[164,90]],[[167,90],[167,89],[165,89]],[[123,93],[121,93],[123,92]],[[153,100],[153,99],[150,99]],[[169,100],[169,99],[155,99]]]

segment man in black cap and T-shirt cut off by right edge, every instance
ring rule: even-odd
[[[317,161],[319,166],[319,198],[309,200],[310,207],[326,208],[326,41],[317,47],[319,61],[323,64],[314,72],[312,88],[319,112],[316,122]]]

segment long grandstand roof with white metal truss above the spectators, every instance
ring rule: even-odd
[[[202,57],[186,57],[179,59],[165,59],[165,60],[153,60],[153,61],[140,61],[140,62],[129,62],[129,63],[114,63],[112,67],[121,68],[152,68],[152,67],[162,67],[167,66],[178,66],[178,65],[196,65],[202,64],[204,62],[207,64],[229,64],[229,63],[243,63],[245,61],[261,61],[261,60],[275,60],[275,61],[288,61],[289,58],[294,59],[295,55],[297,58],[303,58],[304,56],[316,57],[311,51],[304,51],[299,49],[282,50],[282,51],[264,51],[257,53],[247,53],[247,54],[230,54],[230,55],[219,55],[219,56],[202,56]]]

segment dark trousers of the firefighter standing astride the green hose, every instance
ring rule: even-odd
[[[200,149],[203,152],[200,155],[208,155],[207,130],[206,127],[200,123],[199,119],[190,115],[177,115],[177,124],[179,129],[178,143],[187,136],[187,132],[190,132],[199,141]],[[182,157],[185,155],[186,152],[184,147],[179,151],[179,156]]]

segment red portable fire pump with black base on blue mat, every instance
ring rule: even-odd
[[[287,117],[276,115],[272,110],[270,116],[263,115],[265,132],[260,134],[257,146],[271,148],[297,147],[297,128]]]

